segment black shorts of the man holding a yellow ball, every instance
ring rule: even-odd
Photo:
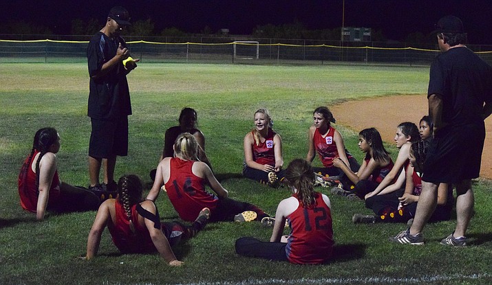
[[[128,155],[128,117],[116,121],[91,119],[89,157],[108,159]]]

